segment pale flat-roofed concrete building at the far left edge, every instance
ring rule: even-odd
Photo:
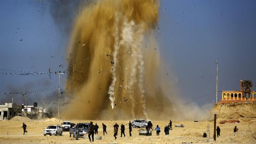
[[[22,113],[22,105],[15,103],[5,103],[0,105],[0,120],[10,120],[17,114]]]

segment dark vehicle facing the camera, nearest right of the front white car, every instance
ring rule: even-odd
[[[78,123],[78,124],[76,124],[76,127],[70,127],[69,137],[71,137],[71,134],[74,137],[76,131],[78,132],[79,137],[83,137],[83,135],[85,135],[89,132],[89,127],[90,127],[89,123]]]

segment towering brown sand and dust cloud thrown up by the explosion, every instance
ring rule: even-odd
[[[69,42],[63,118],[161,119],[174,115],[159,80],[154,31],[159,1],[98,1],[83,7]],[[177,109],[176,109],[177,110]]]

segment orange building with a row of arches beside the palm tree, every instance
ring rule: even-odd
[[[247,102],[247,98],[243,96],[243,81],[240,82],[240,91],[222,91],[220,103]],[[251,91],[249,102],[256,102],[256,91]]]

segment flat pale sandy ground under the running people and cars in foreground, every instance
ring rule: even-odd
[[[72,120],[74,123],[89,122],[90,120]],[[181,143],[215,143],[213,141],[213,122],[196,122],[193,121],[177,121],[173,122],[173,130],[170,131],[170,135],[164,134],[164,126],[168,124],[166,121],[152,121],[153,126],[157,124],[161,127],[160,136],[156,136],[156,131],[153,131],[152,136],[140,136],[139,128],[132,129],[132,137],[129,137],[128,121],[102,121],[94,120],[94,124],[97,123],[100,127],[98,130],[98,136],[102,136],[102,140],[95,140],[96,144],[181,144]],[[108,134],[103,136],[102,122],[107,125]],[[124,124],[126,127],[126,137],[120,137],[121,131],[119,129],[117,140],[113,137],[113,125],[117,122],[119,126]],[[88,139],[80,138],[75,140],[73,137],[69,137],[69,132],[63,132],[63,136],[43,136],[43,130],[48,125],[61,124],[56,119],[47,119],[42,121],[25,121],[28,126],[28,133],[23,135],[22,120],[9,120],[0,121],[0,144],[73,144],[73,143],[90,143]],[[185,127],[174,127],[175,124],[184,124]],[[210,124],[210,139],[203,138],[202,134],[207,130],[207,126]],[[256,143],[256,118],[243,118],[240,119],[239,124],[219,124],[217,120],[217,126],[221,128],[221,137],[217,138],[216,143],[244,143],[255,144]],[[239,131],[233,132],[234,126],[237,126]],[[119,127],[120,128],[120,127]],[[7,135],[8,133],[8,135]]]

